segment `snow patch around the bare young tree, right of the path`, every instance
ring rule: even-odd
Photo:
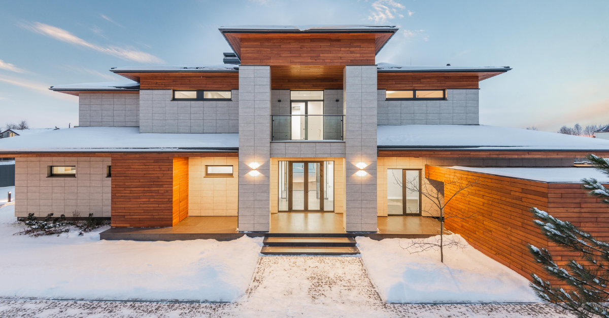
[[[357,237],[362,261],[381,298],[390,303],[538,302],[529,281],[477,251],[459,235],[450,235],[463,249],[428,250],[410,254],[411,239],[381,241]],[[445,238],[449,235],[445,235]],[[440,236],[429,238],[439,241]],[[418,241],[418,240],[417,240]]]

